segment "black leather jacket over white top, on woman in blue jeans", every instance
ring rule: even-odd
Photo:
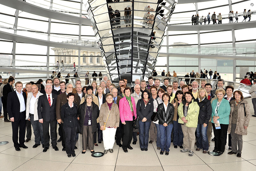
[[[166,123],[167,125],[173,124],[173,117],[174,117],[174,106],[171,103],[168,103],[167,110],[164,110],[164,102],[160,103],[157,106],[157,118],[159,120],[159,125],[163,125]],[[166,122],[165,122],[166,120]]]

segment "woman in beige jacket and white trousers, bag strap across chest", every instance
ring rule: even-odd
[[[103,133],[104,154],[113,153],[116,128],[119,126],[120,113],[117,104],[113,103],[113,94],[106,95],[106,103],[100,107],[99,123]],[[106,129],[104,129],[106,123]]]

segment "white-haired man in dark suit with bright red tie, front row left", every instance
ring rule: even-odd
[[[57,95],[52,93],[52,84],[45,85],[45,92],[39,96],[37,103],[37,113],[39,122],[43,124],[44,150],[49,149],[49,125],[51,129],[52,148],[58,151],[57,147],[57,122],[56,122],[56,101]]]

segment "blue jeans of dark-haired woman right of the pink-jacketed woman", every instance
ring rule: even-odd
[[[151,122],[139,121],[140,148],[148,148],[149,127]]]

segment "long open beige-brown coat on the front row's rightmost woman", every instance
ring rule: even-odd
[[[232,100],[230,102],[230,115],[229,115],[229,125],[228,125],[228,133],[230,133],[231,131],[231,119],[232,119],[232,114],[234,111],[234,107],[235,107],[235,101],[236,100]],[[246,116],[244,117],[244,105],[245,105],[245,113]],[[238,104],[238,115],[237,115],[237,122],[236,122],[236,130],[235,133],[238,135],[247,135],[247,129],[244,129],[244,126],[248,126],[249,125],[249,121],[250,121],[250,106],[248,104],[248,102],[244,99],[242,99],[242,101]]]

